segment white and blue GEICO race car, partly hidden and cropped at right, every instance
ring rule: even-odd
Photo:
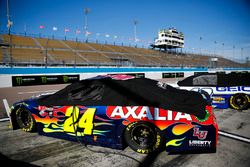
[[[205,92],[211,97],[215,108],[244,110],[250,106],[250,73],[204,73],[189,76],[177,82],[177,85],[170,85]]]

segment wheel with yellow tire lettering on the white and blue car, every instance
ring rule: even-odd
[[[243,93],[237,93],[230,97],[229,105],[235,110],[245,110],[249,106],[249,96]]]

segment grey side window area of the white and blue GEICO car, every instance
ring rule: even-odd
[[[193,78],[194,86],[216,86],[217,75],[201,75]]]

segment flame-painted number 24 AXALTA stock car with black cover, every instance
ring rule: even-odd
[[[14,103],[13,129],[138,153],[216,152],[218,126],[197,92],[129,75],[81,80]]]

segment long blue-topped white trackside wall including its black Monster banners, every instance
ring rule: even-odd
[[[71,83],[69,77],[82,80],[97,75],[107,74],[132,74],[136,77],[150,79],[183,78],[195,73],[250,71],[250,68],[240,69],[207,69],[207,68],[128,68],[128,67],[89,67],[89,68],[67,68],[67,67],[18,67],[0,68],[0,88],[12,86],[29,86],[41,84]],[[25,79],[26,78],[26,79]],[[28,79],[27,79],[28,78]],[[30,80],[30,82],[28,82]],[[65,80],[69,82],[65,82]],[[32,82],[31,82],[32,81]],[[33,83],[34,81],[34,83]],[[72,80],[73,82],[73,80]]]

